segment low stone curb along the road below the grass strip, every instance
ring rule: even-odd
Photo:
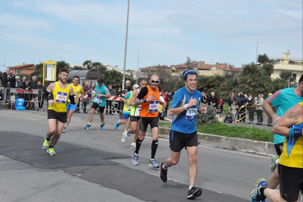
[[[159,137],[169,139],[169,128],[159,127]],[[219,135],[197,133],[198,144],[218,147],[221,149],[230,149],[248,153],[256,153],[260,155],[276,155],[276,149],[271,142],[263,142],[257,140],[247,140],[241,138],[230,138]],[[151,136],[150,128],[147,129],[146,135]]]

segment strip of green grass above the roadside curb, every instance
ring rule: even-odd
[[[171,124],[159,122],[159,126],[170,128]],[[240,126],[240,125],[229,126],[219,122],[214,124],[197,126],[197,132],[220,135],[225,137],[243,138],[248,140],[259,140],[265,142],[274,141],[274,135],[269,130],[259,129],[250,126]]]

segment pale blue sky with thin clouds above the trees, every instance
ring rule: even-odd
[[[0,70],[47,60],[123,69],[127,0],[2,0]],[[130,0],[126,69],[301,59],[302,0]],[[262,42],[257,42],[262,41]]]

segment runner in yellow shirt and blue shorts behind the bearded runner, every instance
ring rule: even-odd
[[[80,77],[75,75],[73,77],[73,83],[69,84],[73,90],[74,90],[74,97],[75,98],[79,98],[79,95],[80,93],[82,94],[81,97],[79,98],[80,101],[82,101],[82,98],[84,97],[84,90],[82,88],[82,86],[79,86],[79,82],[80,82]],[[71,121],[71,118],[72,118],[72,115],[74,114],[74,112],[76,111],[77,109],[77,104],[71,104],[71,101],[70,99],[68,99],[68,102],[67,102],[67,106],[66,106],[66,110],[67,110],[67,123],[65,123],[64,127],[63,127],[63,130],[62,130],[62,133],[65,133],[66,131],[66,127],[69,125],[70,121]]]

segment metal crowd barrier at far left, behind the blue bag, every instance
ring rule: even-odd
[[[26,107],[26,109],[38,110],[39,108],[41,108],[42,105],[42,90],[25,90],[15,88],[6,89],[6,101],[9,101],[10,103],[15,103],[17,98],[24,99],[24,106]],[[11,105],[11,108],[13,106],[14,105]]]

